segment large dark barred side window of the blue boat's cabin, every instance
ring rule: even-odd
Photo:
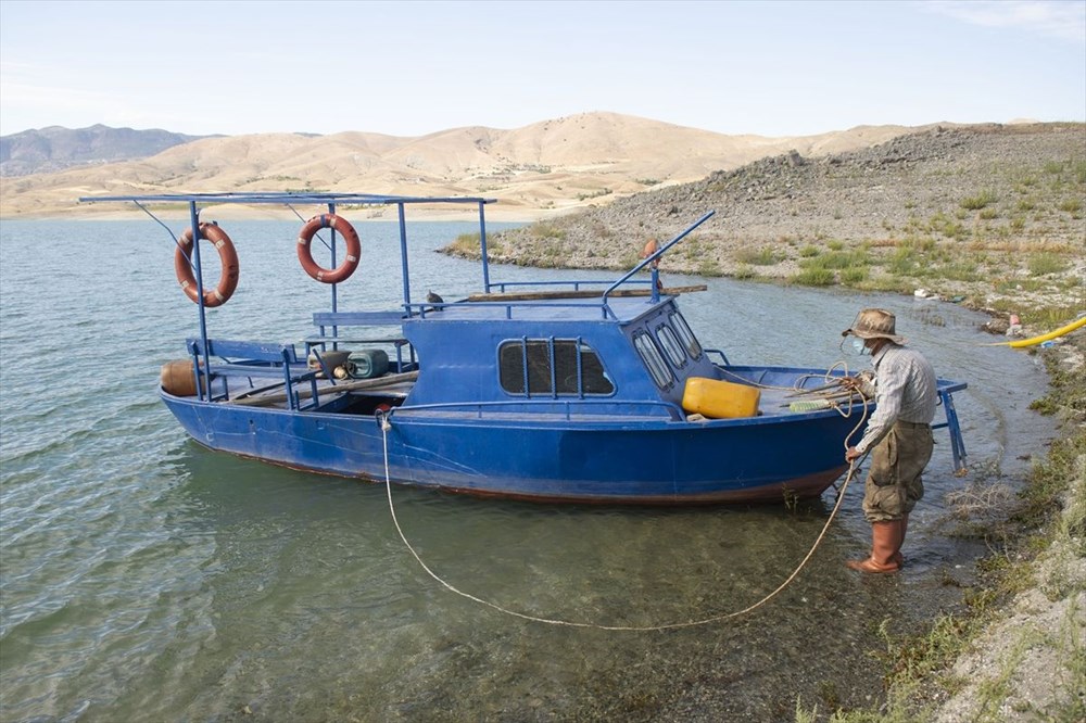
[[[497,348],[502,389],[523,396],[615,392],[595,351],[580,339],[517,339]],[[526,390],[527,384],[527,390]]]

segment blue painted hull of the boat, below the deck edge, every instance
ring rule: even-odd
[[[821,494],[859,416],[552,423],[472,416],[292,413],[163,399],[199,443],[295,469],[533,500],[706,504]],[[387,451],[387,453],[386,453]],[[386,471],[387,470],[387,471]]]

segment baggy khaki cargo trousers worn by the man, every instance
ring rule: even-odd
[[[871,468],[863,486],[863,516],[868,522],[900,520],[924,496],[923,472],[935,440],[930,424],[896,421],[871,451]]]

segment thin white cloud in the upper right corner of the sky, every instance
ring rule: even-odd
[[[1082,0],[935,0],[925,7],[973,25],[1021,28],[1086,42],[1086,2]]]

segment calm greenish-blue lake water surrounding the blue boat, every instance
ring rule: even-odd
[[[223,226],[241,281],[209,313],[210,333],[312,335],[329,291],[296,262],[300,224]],[[340,308],[392,308],[395,227],[356,227],[362,265]],[[476,264],[433,253],[472,230],[415,226],[416,299],[479,290]],[[799,578],[746,617],[607,632],[505,616],[426,574],[382,485],[238,459],[184,434],[156,391],[159,367],[182,358],[197,331],[172,257],[150,219],[0,225],[5,722],[793,720],[796,696],[876,700],[879,663],[867,651],[885,649],[879,624],[893,618],[892,630],[907,632],[954,609],[961,591],[947,582],[968,584],[985,553],[949,535],[944,497],[970,478],[951,474],[943,430],[900,574],[861,578],[843,565],[870,541],[858,483]],[[971,477],[1019,484],[1023,458],[1053,434],[1027,409],[1046,391],[1039,362],[983,346],[998,340],[977,330],[978,314],[662,266],[668,286],[708,283],[680,304],[703,345],[735,364],[862,368],[838,347],[839,331],[863,306],[894,310],[940,377],[970,384],[957,406]],[[492,280],[539,276],[492,269]],[[832,490],[791,510],[540,506],[403,487],[392,496],[404,533],[450,584],[528,614],[631,626],[760,599],[807,554],[834,502]]]

